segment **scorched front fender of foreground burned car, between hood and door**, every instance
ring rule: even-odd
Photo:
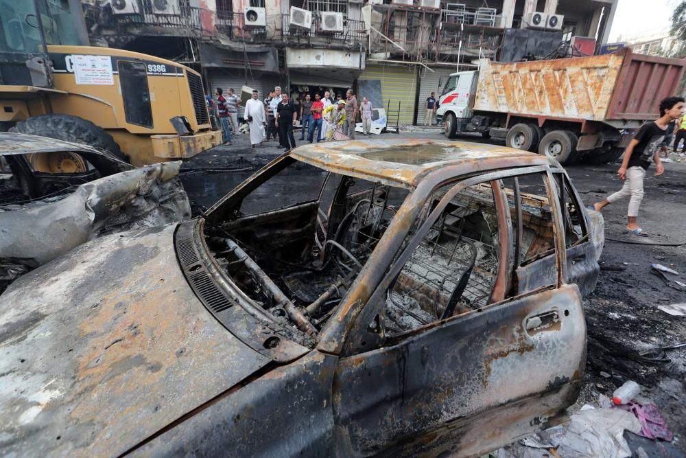
[[[337,361],[311,352],[273,369],[132,456],[334,457],[331,385]]]

